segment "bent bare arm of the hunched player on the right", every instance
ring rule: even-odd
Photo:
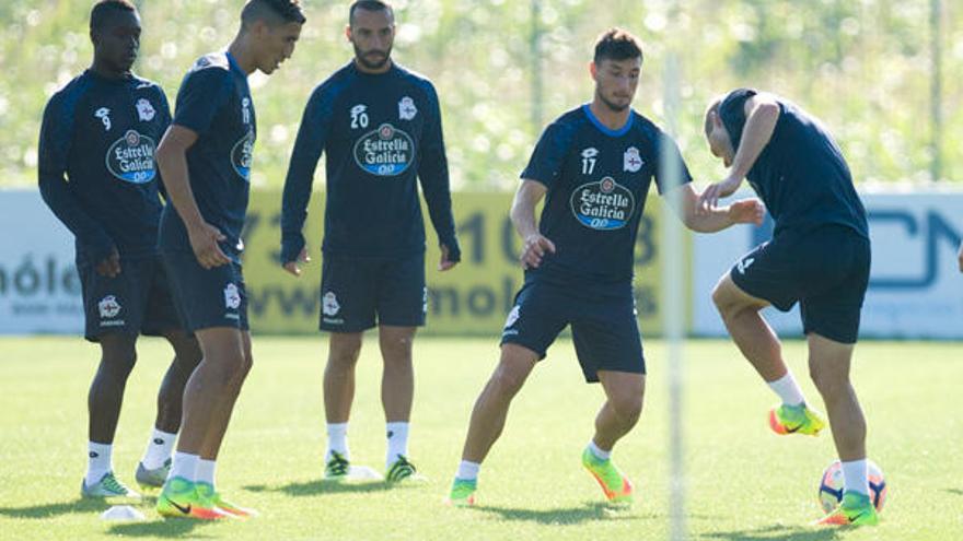
[[[718,113],[713,111],[713,121],[718,119]],[[756,160],[762,154],[763,149],[773,138],[776,130],[776,122],[779,121],[779,104],[773,96],[766,94],[756,94],[745,102],[745,128],[742,132],[742,140],[739,142],[739,149],[732,160],[729,168],[729,175],[726,179],[709,185],[703,191],[699,198],[700,212],[708,212],[709,209],[716,207],[719,198],[731,196],[739,189],[742,179],[749,174]]]

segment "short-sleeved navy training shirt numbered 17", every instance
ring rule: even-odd
[[[631,283],[649,186],[654,177],[662,193],[669,183],[659,160],[663,144],[678,160],[682,183],[691,183],[675,142],[634,110],[615,131],[589,105],[548,126],[521,177],[548,188],[538,230],[556,252],[526,278],[585,287]]]

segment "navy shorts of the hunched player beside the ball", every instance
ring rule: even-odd
[[[735,263],[732,281],[782,311],[797,302],[803,331],[856,343],[869,285],[869,239],[850,227],[785,231]]]

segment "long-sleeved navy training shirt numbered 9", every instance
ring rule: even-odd
[[[78,264],[156,254],[154,151],[171,122],[164,91],[91,70],[54,94],[40,128],[40,193],[73,233]]]

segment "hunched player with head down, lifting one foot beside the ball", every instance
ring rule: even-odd
[[[869,494],[866,420],[849,383],[859,314],[869,282],[866,210],[843,153],[826,128],[797,105],[739,89],[709,106],[706,138],[729,168],[706,188],[700,210],[747,178],[776,221],[771,240],[723,275],[712,301],[729,333],[781,403],[769,412],[777,434],[815,435],[824,421],[802,395],[761,310],[797,302],[809,344],[810,375],[823,397],[843,461],[845,495],[823,524],[875,524]]]

